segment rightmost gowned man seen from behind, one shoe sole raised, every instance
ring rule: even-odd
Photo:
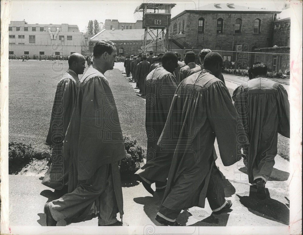
[[[232,98],[250,142],[243,146],[248,180],[256,184],[258,197],[265,199],[265,183],[275,164],[278,133],[290,137],[289,101],[285,88],[266,78],[264,63],[255,63],[249,72],[252,79],[236,88]]]

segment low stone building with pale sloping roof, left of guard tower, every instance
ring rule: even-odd
[[[109,40],[115,43],[118,55],[137,55],[141,52],[144,29],[104,29],[92,38],[91,45],[99,40]],[[92,50],[92,47],[91,47]]]

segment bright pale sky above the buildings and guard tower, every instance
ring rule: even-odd
[[[227,3],[221,0],[11,0],[10,20],[25,20],[28,24],[70,24],[78,25],[85,31],[89,20],[105,22],[105,19],[117,19],[119,22],[136,22],[142,19],[142,13],[134,14],[141,3],[176,3],[171,10],[171,17],[184,10],[194,9],[209,3]],[[289,1],[263,0],[245,1],[228,0],[235,5],[253,8],[281,10]]]

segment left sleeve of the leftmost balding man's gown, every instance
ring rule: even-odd
[[[76,87],[75,82],[69,78],[62,79],[57,85],[51,122],[46,138],[48,145],[60,144],[64,140],[75,105]]]

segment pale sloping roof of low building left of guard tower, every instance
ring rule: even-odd
[[[142,40],[142,35],[144,35],[145,29],[103,29],[101,32],[97,33],[95,36],[90,38],[91,41],[99,40],[110,40],[110,41],[129,41],[129,40]]]

